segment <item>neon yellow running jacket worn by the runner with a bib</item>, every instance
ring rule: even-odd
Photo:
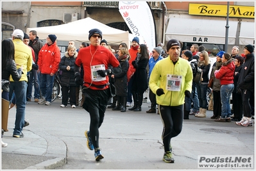
[[[167,74],[182,76],[182,85],[180,91],[166,90]],[[149,88],[154,94],[157,94],[157,89],[164,90],[163,95],[157,96],[157,104],[163,106],[180,106],[184,104],[185,90],[192,91],[192,69],[189,61],[178,58],[177,63],[174,65],[171,58],[168,56],[155,64],[149,77]],[[158,83],[160,82],[160,84]]]

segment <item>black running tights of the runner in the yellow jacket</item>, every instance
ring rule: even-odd
[[[177,136],[182,131],[183,104],[180,106],[162,106],[159,104],[158,110],[164,125],[162,140],[164,151],[167,152],[170,151],[171,138]]]

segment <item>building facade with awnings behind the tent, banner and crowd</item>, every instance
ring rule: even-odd
[[[205,45],[213,56],[225,49],[227,17],[218,15],[217,11],[225,10],[227,2],[148,1],[148,4],[155,22],[156,42],[166,44],[170,38],[176,38],[183,42],[183,49],[189,49],[192,43]],[[250,8],[251,16],[228,18],[228,52],[231,52],[233,45],[241,48],[246,44],[254,45],[255,2],[232,1],[229,5]],[[201,11],[194,10],[199,6]],[[26,32],[27,28],[56,26],[87,17],[132,33],[119,12],[118,1],[2,1],[1,9],[2,39],[11,37],[16,28]],[[141,14],[138,13],[139,19]],[[66,46],[67,42],[58,41],[58,45]],[[80,42],[76,43],[76,47],[79,45]],[[112,46],[117,48],[117,45]]]

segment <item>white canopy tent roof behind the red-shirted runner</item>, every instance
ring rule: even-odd
[[[39,39],[45,39],[48,35],[56,35],[57,40],[89,42],[89,31],[94,28],[98,28],[102,31],[102,38],[107,40],[108,44],[121,44],[124,42],[128,47],[130,46],[131,40],[129,40],[130,36],[128,31],[111,28],[90,17],[58,26],[27,28],[26,33],[29,34],[31,30],[35,30],[37,31]]]

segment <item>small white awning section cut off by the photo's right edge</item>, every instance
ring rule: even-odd
[[[255,22],[241,22],[240,45],[255,44]]]

